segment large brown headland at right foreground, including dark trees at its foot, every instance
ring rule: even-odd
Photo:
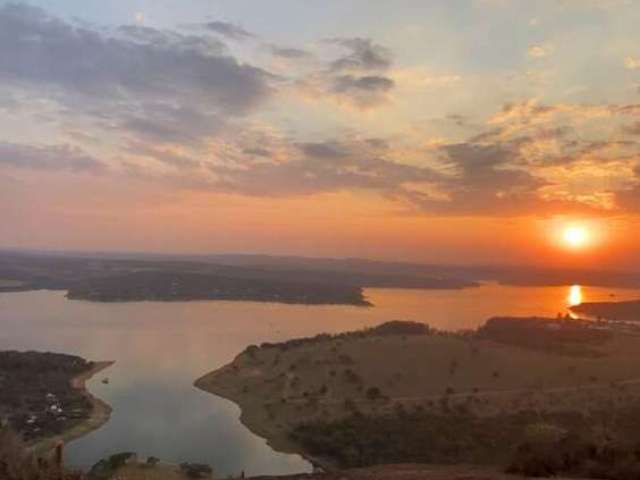
[[[638,365],[640,331],[589,321],[494,318],[457,333],[391,322],[252,345],[195,384],[238,404],[275,449],[328,470],[477,464],[597,478],[621,459],[638,467]]]

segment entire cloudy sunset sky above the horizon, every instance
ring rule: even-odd
[[[639,6],[0,0],[0,247],[640,267]]]

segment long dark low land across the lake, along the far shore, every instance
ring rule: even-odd
[[[365,288],[463,289],[475,281],[377,262],[0,251],[0,293],[63,290],[90,302],[254,301],[371,306]]]

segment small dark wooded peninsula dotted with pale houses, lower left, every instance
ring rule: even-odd
[[[0,424],[43,451],[96,430],[109,420],[111,408],[85,382],[111,364],[56,353],[0,352]]]

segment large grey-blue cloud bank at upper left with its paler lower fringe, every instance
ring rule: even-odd
[[[243,117],[274,77],[240,63],[219,40],[143,26],[78,26],[24,4],[0,7],[0,85],[65,122],[196,143],[221,118]]]

